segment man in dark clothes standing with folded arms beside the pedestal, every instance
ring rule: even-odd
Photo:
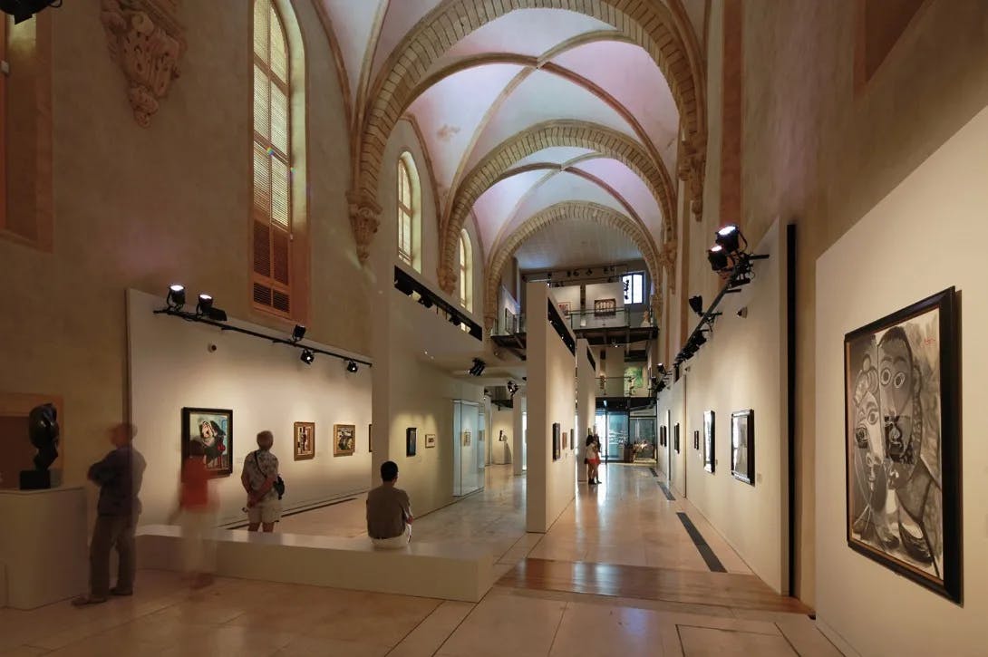
[[[89,546],[89,595],[72,601],[76,607],[105,603],[110,595],[133,595],[137,569],[134,551],[134,527],[140,515],[140,483],[144,476],[144,457],[131,445],[137,431],[121,423],[110,430],[114,451],[89,468],[89,480],[100,486],[98,516]],[[110,549],[117,548],[120,567],[117,586],[110,588]]]

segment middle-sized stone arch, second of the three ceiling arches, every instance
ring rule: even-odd
[[[613,128],[582,121],[538,123],[501,142],[463,178],[450,205],[450,216],[441,223],[439,283],[444,289],[455,286],[455,236],[477,199],[494,185],[512,165],[543,148],[579,146],[592,148],[621,162],[648,186],[662,210],[663,240],[676,216],[676,187],[664,167],[656,164],[644,147]],[[644,252],[643,252],[644,253]],[[653,279],[657,280],[657,279]]]

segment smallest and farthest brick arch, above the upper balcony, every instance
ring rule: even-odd
[[[616,228],[630,237],[641,252],[641,257],[645,260],[652,285],[656,289],[659,288],[659,282],[662,280],[660,278],[662,271],[659,266],[659,251],[652,240],[652,236],[641,224],[607,205],[586,201],[567,201],[549,205],[526,219],[522,225],[508,235],[487,261],[484,273],[484,324],[488,329],[494,326],[494,322],[497,320],[497,288],[501,283],[501,275],[508,260],[522,245],[522,242],[532,237],[536,232],[553,223],[568,219],[590,220],[602,226]],[[653,295],[652,312],[656,313],[655,316],[658,317],[658,308],[654,307],[656,298],[657,296]]]

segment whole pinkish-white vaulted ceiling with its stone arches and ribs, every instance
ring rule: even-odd
[[[318,1],[361,132],[357,184],[373,193],[382,141],[396,121],[416,123],[440,196],[441,269],[470,219],[488,264],[508,244],[538,267],[660,251],[680,140],[705,136],[705,0]],[[625,232],[576,212],[519,244],[535,215],[579,204],[613,210]]]

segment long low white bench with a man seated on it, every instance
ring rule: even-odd
[[[182,534],[171,525],[137,529],[141,568],[182,569]],[[216,574],[288,584],[476,603],[494,584],[494,556],[481,545],[416,541],[396,550],[371,540],[217,530]]]

